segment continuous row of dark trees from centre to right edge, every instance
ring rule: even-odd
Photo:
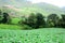
[[[62,17],[62,18],[61,18]],[[41,13],[31,13],[27,18],[20,24],[28,25],[31,28],[65,28],[65,15],[61,17],[57,14],[50,14],[48,17]]]

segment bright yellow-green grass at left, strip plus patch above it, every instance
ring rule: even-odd
[[[0,29],[9,29],[9,30],[20,30],[22,29],[22,26],[18,26],[20,18],[12,18],[12,25],[8,24],[0,24]]]

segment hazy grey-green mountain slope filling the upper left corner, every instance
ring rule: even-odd
[[[15,8],[27,6],[31,4],[30,1],[27,0],[0,0],[0,5],[13,5]]]

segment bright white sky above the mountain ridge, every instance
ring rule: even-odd
[[[60,8],[65,6],[65,0],[30,0],[30,1],[32,1],[32,3],[47,2]]]

